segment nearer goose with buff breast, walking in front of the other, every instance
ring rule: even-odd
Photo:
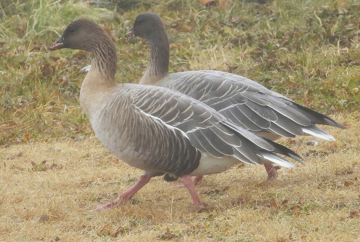
[[[293,163],[290,149],[242,129],[205,104],[159,86],[116,84],[113,41],[90,19],[69,24],[51,50],[69,48],[93,54],[91,68],[81,85],[80,104],[100,142],[116,157],[144,170],[129,190],[116,200],[100,204],[108,209],[130,200],[154,176],[180,178],[195,206],[207,205],[190,176],[223,172],[240,162]]]

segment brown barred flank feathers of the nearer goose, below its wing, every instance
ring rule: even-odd
[[[181,177],[196,169],[199,165],[201,153],[188,139],[184,139],[183,132],[179,129],[172,129],[160,118],[149,116],[139,108],[136,101],[141,102],[143,99],[134,99],[131,92],[127,92],[125,95],[128,97],[122,98],[122,103],[115,105],[109,103],[109,107],[119,107],[119,105],[125,107],[121,114],[114,115],[119,118],[104,118],[117,122],[117,125],[109,125],[120,126],[121,138],[125,144],[124,149],[132,147],[130,148],[131,152],[134,151],[136,154],[136,157],[132,155],[132,158],[146,163],[147,167],[143,169],[156,175],[166,173]],[[119,99],[113,98],[113,100]],[[151,100],[148,100],[151,103]],[[155,101],[149,107],[159,108]],[[112,110],[116,109],[113,108]],[[119,120],[120,122],[118,122]],[[134,162],[129,163],[131,165]]]

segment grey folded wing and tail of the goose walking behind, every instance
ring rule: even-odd
[[[221,71],[186,71],[165,77],[158,85],[180,91],[214,108],[250,131],[285,137],[314,135],[334,140],[316,124],[344,125],[245,77]]]

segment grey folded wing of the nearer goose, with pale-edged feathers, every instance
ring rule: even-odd
[[[194,147],[214,157],[233,156],[245,163],[261,164],[264,160],[262,153],[272,154],[274,151],[297,157],[296,160],[300,161],[300,157],[288,148],[242,129],[215,110],[181,93],[136,85],[134,105],[170,129],[181,131]],[[274,156],[293,166],[284,158]]]

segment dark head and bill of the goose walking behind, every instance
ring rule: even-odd
[[[138,15],[134,26],[126,32],[126,36],[139,36],[140,38],[151,40],[159,35],[167,36],[165,24],[156,13],[142,13]]]

